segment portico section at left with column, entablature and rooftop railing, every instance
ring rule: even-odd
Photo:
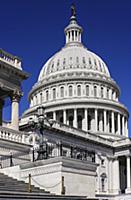
[[[10,128],[19,129],[19,101],[22,96],[21,82],[28,78],[22,71],[21,59],[0,49],[0,125],[3,121],[4,100],[11,100]]]

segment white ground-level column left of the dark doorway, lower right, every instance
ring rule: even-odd
[[[119,160],[115,157],[113,160],[113,193],[119,194],[120,192],[120,178],[119,178]]]

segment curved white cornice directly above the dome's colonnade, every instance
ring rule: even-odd
[[[26,116],[27,114],[31,113],[31,112],[35,112],[37,110],[37,107],[40,104],[29,108],[28,110],[26,110],[23,113],[23,116]],[[41,104],[42,105],[42,104]],[[107,99],[100,99],[100,98],[91,98],[91,97],[82,97],[82,98],[65,98],[63,99],[56,99],[55,101],[50,101],[48,103],[44,102],[43,103],[44,107],[45,107],[45,112],[46,110],[50,109],[50,108],[54,108],[54,110],[62,110],[63,107],[64,109],[73,109],[73,108],[79,108],[81,107],[80,105],[82,105],[82,108],[90,108],[90,106],[92,106],[92,108],[96,108],[97,106],[100,106],[100,108],[98,107],[98,109],[102,109],[104,107],[104,109],[107,110],[116,110],[118,112],[121,112],[123,114],[123,112],[125,113],[125,115],[127,115],[127,117],[129,117],[129,112],[127,110],[127,108],[119,103],[119,102],[115,102],[112,100],[107,100]]]

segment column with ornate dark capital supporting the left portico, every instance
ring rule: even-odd
[[[19,130],[19,101],[21,98],[20,92],[12,94],[12,112],[11,112],[11,127]]]

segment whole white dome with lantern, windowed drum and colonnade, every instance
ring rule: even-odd
[[[105,62],[83,46],[82,31],[72,15],[65,28],[66,44],[42,67],[24,116],[34,115],[43,106],[54,121],[102,137],[124,136],[120,127],[128,111],[119,102],[119,88]]]

